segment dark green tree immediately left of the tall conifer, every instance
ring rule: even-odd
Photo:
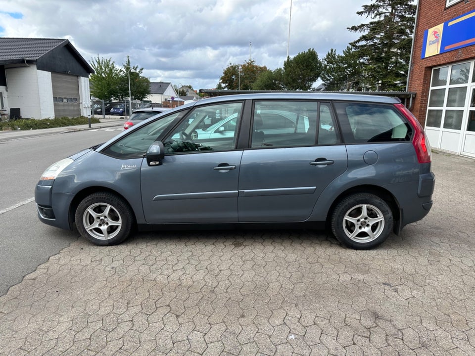
[[[322,59],[320,73],[325,90],[360,91],[363,81],[361,66],[358,55],[350,46],[343,50],[343,54],[337,54],[335,49],[330,49]]]

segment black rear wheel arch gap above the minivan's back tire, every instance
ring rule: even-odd
[[[374,194],[378,197],[380,197],[382,200],[384,200],[388,205],[389,208],[391,209],[393,220],[394,220],[394,226],[393,226],[393,232],[398,235],[399,232],[401,231],[401,208],[399,206],[399,202],[397,199],[394,197],[394,195],[387,189],[380,187],[378,185],[371,185],[371,184],[362,184],[362,185],[356,185],[353,187],[350,187],[346,189],[345,191],[341,192],[334,200],[332,205],[330,206],[330,209],[328,210],[327,217],[331,217],[336,206],[338,203],[343,200],[344,198],[355,194],[355,193],[370,193]],[[331,225],[331,219],[327,218],[327,227],[330,227]]]

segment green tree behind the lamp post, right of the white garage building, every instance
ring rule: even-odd
[[[119,81],[119,93],[117,100],[122,101],[129,97],[129,71],[130,71],[130,93],[132,99],[143,100],[150,94],[150,80],[142,76],[143,68],[138,65],[131,66],[130,58],[122,64],[120,69],[121,79]]]

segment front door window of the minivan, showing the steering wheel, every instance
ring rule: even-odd
[[[229,151],[236,147],[242,102],[195,107],[169,134],[166,154]]]

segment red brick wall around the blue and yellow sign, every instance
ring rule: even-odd
[[[475,58],[475,45],[472,45],[421,59],[422,48],[425,45],[424,31],[475,9],[475,0],[469,0],[467,3],[463,0],[447,8],[445,3],[445,0],[419,0],[408,91],[417,93],[411,111],[422,125],[426,121],[432,67]]]

